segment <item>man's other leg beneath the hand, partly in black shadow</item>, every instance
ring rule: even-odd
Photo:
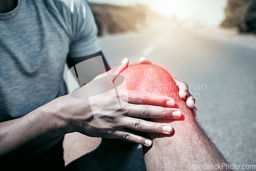
[[[137,144],[72,133],[65,136],[63,148],[68,170],[124,170]]]

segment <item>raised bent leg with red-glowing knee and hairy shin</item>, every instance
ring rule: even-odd
[[[172,97],[181,110],[179,120],[153,121],[171,123],[174,131],[169,135],[148,133],[153,140],[151,147],[143,147],[146,169],[150,170],[207,170],[203,165],[227,162],[196,122],[191,109],[178,95],[178,87],[172,76],[161,67],[148,64],[132,65],[120,75],[125,78],[127,89]],[[163,115],[166,115],[163,113]],[[206,166],[207,167],[207,166]],[[226,167],[214,170],[226,170]],[[208,170],[212,170],[208,168]]]

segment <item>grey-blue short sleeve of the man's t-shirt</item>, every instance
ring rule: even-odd
[[[97,40],[98,29],[88,3],[85,0],[75,2],[71,4],[72,36],[69,57],[72,58],[88,56],[101,50]]]

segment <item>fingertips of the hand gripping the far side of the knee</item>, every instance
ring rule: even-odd
[[[152,64],[150,60],[148,60],[145,57],[141,57],[139,60],[139,63],[143,64]],[[185,82],[179,81],[174,78],[174,81],[176,82],[178,88],[179,88],[179,96],[181,99],[186,99],[186,104],[188,108],[192,110],[192,113],[194,117],[197,117],[197,108],[195,105],[196,99],[189,93],[188,85]]]

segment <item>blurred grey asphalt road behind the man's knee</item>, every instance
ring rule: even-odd
[[[134,63],[146,56],[186,82],[197,99],[198,121],[228,162],[256,164],[256,38],[154,23],[99,43],[111,67],[124,57]],[[143,166],[138,148],[126,170]]]

